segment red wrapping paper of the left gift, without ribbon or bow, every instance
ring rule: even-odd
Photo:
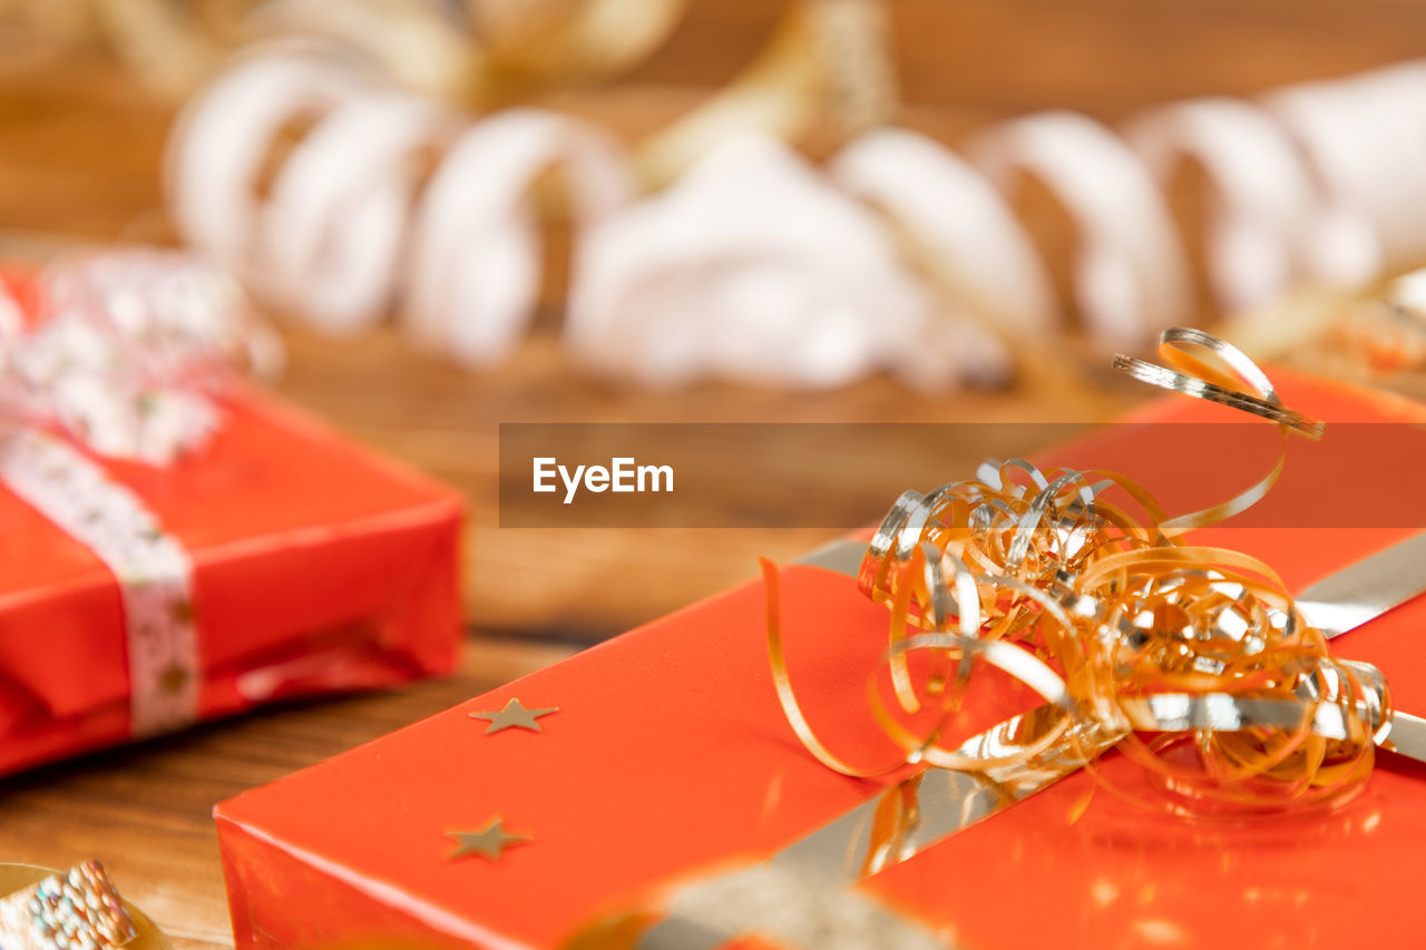
[[[255,391],[170,466],[104,461],[193,559],[201,719],[448,672],[456,495]],[[124,742],[120,588],[0,484],[0,773]]]

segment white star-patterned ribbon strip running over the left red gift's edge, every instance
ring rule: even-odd
[[[193,562],[183,545],[128,488],[46,432],[0,429],[0,484],[93,551],[118,581],[133,735],[197,719]]]

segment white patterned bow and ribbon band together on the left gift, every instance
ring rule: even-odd
[[[270,364],[275,344],[231,280],[171,251],[80,255],[23,294],[4,290],[0,484],[113,572],[133,735],[181,727],[198,708],[193,563],[143,499],[80,446],[174,462],[220,425],[212,397],[241,368]]]

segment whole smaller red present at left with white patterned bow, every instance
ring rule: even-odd
[[[0,285],[0,773],[453,665],[459,499],[200,385],[208,280],[130,252]]]

